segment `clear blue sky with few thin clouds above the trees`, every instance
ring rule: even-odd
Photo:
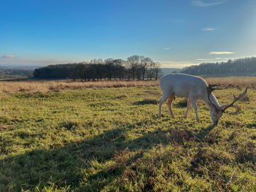
[[[256,55],[255,0],[2,0],[0,64],[145,55],[164,67]]]

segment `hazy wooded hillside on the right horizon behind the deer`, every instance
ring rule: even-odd
[[[212,76],[226,75],[255,75],[256,58],[239,58],[221,63],[204,63],[197,66],[187,66],[181,70],[186,74],[210,74]]]

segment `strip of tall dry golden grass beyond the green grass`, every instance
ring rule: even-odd
[[[256,77],[208,77],[209,84],[217,84],[222,88],[256,88]],[[49,91],[82,90],[86,88],[119,88],[158,86],[159,81],[95,81],[78,82],[72,80],[44,81],[0,81],[0,93],[47,93]]]

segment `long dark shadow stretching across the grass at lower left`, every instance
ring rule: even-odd
[[[137,124],[137,123],[136,123]],[[134,127],[135,125],[127,125]],[[64,147],[52,146],[49,150],[33,150],[22,155],[10,156],[0,160],[0,191],[34,191],[42,190],[49,183],[59,187],[70,185],[72,189],[83,191],[100,191],[105,185],[120,176],[122,168],[97,172],[87,178],[87,183],[95,183],[94,188],[83,188],[84,170],[91,167],[91,161],[105,162],[115,157],[122,150],[145,150],[158,144],[167,145],[184,137],[176,130],[158,129],[148,132],[133,140],[126,140],[126,128],[115,128],[105,131],[91,139],[70,143]],[[173,129],[172,129],[173,130]],[[167,136],[167,132],[171,135]],[[176,138],[177,137],[177,138]],[[129,160],[131,164],[137,158]],[[91,185],[93,186],[93,185]]]

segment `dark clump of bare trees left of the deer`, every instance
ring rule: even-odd
[[[34,70],[40,79],[91,80],[157,80],[162,74],[160,64],[151,58],[132,55],[127,61],[108,58],[94,59],[79,64],[57,64]]]

